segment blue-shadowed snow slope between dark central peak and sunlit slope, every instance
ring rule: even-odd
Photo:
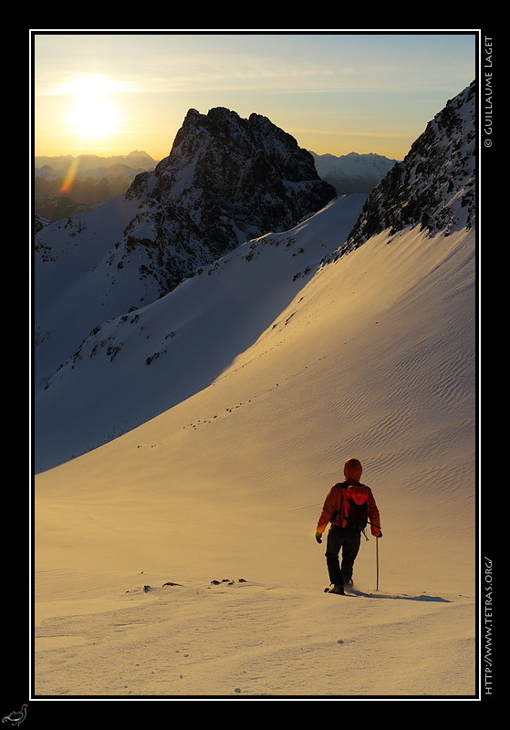
[[[241,245],[144,308],[127,314],[127,300],[119,302],[121,315],[106,322],[98,276],[109,267],[88,265],[84,255],[94,254],[82,246],[79,270],[86,274],[78,276],[70,268],[77,265],[60,255],[55,276],[72,293],[67,302],[45,277],[39,297],[50,337],[37,349],[37,370],[53,373],[58,357],[73,354],[36,384],[36,468],[83,454],[209,385],[280,316],[321,258],[347,239],[365,199],[339,198],[291,231]],[[80,307],[71,304],[77,288]],[[128,297],[122,292],[129,290],[114,287],[110,298]],[[69,349],[77,332],[82,341]]]

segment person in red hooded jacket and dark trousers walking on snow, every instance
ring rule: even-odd
[[[359,482],[363,467],[358,459],[348,459],[344,465],[345,482],[333,485],[328,492],[317,522],[316,540],[328,530],[326,565],[328,567],[329,593],[344,595],[344,585],[352,584],[352,568],[358,556],[361,532],[370,524],[374,537],[382,537],[380,515],[374,495],[367,485]],[[342,550],[340,567],[339,553]]]

